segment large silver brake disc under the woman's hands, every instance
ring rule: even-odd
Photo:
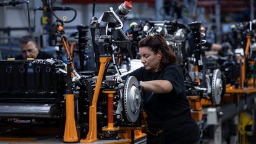
[[[124,111],[129,122],[137,121],[140,114],[140,103],[142,96],[136,77],[130,76],[124,84]]]

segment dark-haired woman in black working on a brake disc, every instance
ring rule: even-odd
[[[198,125],[192,119],[186,97],[184,77],[161,35],[139,42],[144,67],[133,75],[143,87],[143,109],[147,113],[147,143],[198,144]]]

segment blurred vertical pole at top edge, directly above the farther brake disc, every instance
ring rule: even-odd
[[[221,22],[220,22],[220,0],[215,3],[215,19],[216,19],[216,42],[221,43]]]

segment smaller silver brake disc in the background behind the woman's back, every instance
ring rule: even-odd
[[[213,80],[211,83],[213,104],[220,104],[222,88],[221,70],[215,69],[213,70]]]

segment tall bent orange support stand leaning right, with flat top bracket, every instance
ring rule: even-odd
[[[100,87],[105,71],[106,62],[112,59],[111,56],[100,56],[100,71],[98,74],[98,80],[96,82],[95,91],[93,93],[92,105],[89,109],[89,132],[85,139],[80,140],[81,143],[93,143],[96,142],[97,139],[97,117],[96,117],[96,108],[98,96],[100,93]]]

